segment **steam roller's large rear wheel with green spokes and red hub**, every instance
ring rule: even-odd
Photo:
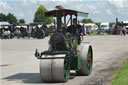
[[[76,71],[78,75],[89,75],[92,72],[93,64],[93,50],[92,46],[88,43],[81,43],[79,47],[80,59],[82,62],[82,67],[80,70]]]

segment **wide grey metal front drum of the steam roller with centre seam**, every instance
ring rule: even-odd
[[[40,77],[42,81],[67,81],[70,70],[65,64],[65,59],[41,59]]]

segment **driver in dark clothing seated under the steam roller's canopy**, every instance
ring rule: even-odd
[[[80,45],[80,41],[81,41],[81,39],[83,40],[83,35],[85,35],[85,30],[84,30],[83,26],[77,24],[76,18],[73,19],[73,25],[67,27],[66,31],[73,35],[78,34],[78,44]],[[77,49],[78,49],[79,45],[77,46]]]

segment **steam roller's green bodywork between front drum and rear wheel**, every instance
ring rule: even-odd
[[[73,40],[76,42],[73,43]],[[65,62],[65,67],[67,67],[68,64],[68,69],[70,70],[77,70],[82,67],[82,62],[80,59],[79,51],[76,51],[76,48],[78,46],[78,37],[72,36],[67,38],[67,42],[69,42],[69,50],[67,51],[44,51],[41,53],[42,55],[59,55],[59,54],[65,54],[66,56],[64,59],[66,60]],[[54,57],[55,58],[55,57]]]

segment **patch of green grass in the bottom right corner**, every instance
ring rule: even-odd
[[[128,85],[128,61],[124,66],[113,73],[112,85]]]

